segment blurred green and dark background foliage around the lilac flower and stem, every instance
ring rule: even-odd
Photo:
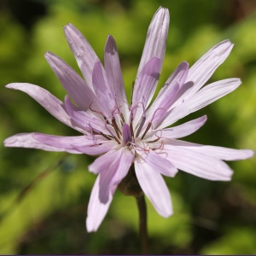
[[[207,113],[207,124],[185,138],[195,143],[256,149],[256,1],[252,0],[1,0],[0,138],[19,132],[76,135],[32,98],[4,88],[38,84],[61,100],[65,91],[44,60],[54,52],[78,72],[62,26],[77,26],[103,59],[108,34],[115,38],[128,98],[146,32],[159,6],[171,13],[160,85],[177,65],[190,66],[214,44],[230,38],[231,55],[211,81],[232,77],[243,84],[189,120]],[[79,72],[80,73],[80,72]],[[95,176],[93,158],[0,146],[0,253],[140,253],[134,198],[119,191],[96,233],[84,219]],[[179,172],[166,178],[174,215],[162,218],[148,204],[149,253],[256,253],[255,157],[230,163],[230,183]],[[41,176],[38,176],[41,174]]]

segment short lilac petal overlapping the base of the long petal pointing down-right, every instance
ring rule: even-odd
[[[140,154],[137,151],[137,154]],[[172,165],[172,162],[165,158],[165,154],[157,154],[154,150],[150,149],[147,154],[140,154],[141,160],[148,163],[155,172],[166,175],[168,177],[174,177],[177,173],[177,168]]]

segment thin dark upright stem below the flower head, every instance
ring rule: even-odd
[[[139,231],[142,243],[142,253],[148,254],[148,228],[147,228],[147,207],[144,195],[136,197],[139,210]]]

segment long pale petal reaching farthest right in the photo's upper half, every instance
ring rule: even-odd
[[[199,90],[194,96],[181,103],[176,108],[169,111],[166,119],[160,124],[159,129],[172,125],[178,119],[182,119],[189,113],[193,113],[206,107],[219,98],[229,94],[241,84],[240,79],[224,79],[212,84],[208,84]]]

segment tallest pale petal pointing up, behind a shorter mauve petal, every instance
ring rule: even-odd
[[[166,54],[166,38],[168,35],[170,15],[168,9],[160,7],[154,14],[148,27],[143,55],[137,71],[137,77],[143,71],[143,67],[154,56],[160,58],[160,69]]]

